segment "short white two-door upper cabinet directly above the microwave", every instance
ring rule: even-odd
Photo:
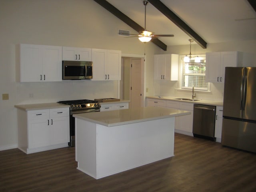
[[[64,61],[92,61],[91,48],[62,47]]]

